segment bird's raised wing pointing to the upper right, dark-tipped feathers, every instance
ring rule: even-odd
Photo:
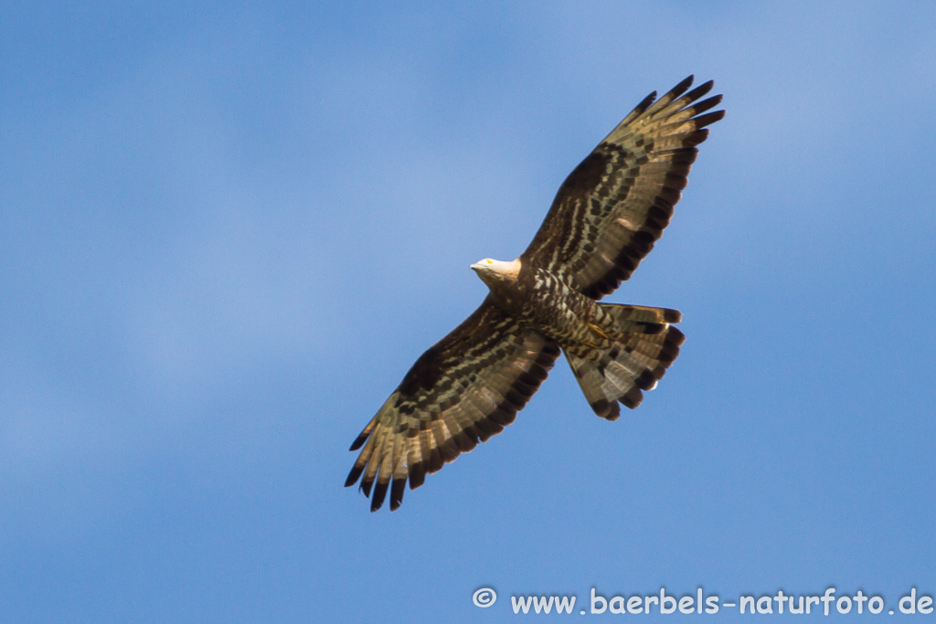
[[[534,267],[569,276],[579,292],[599,299],[631,276],[663,234],[686,176],[709,136],[705,126],[724,110],[708,94],[712,82],[684,94],[690,76],[655,104],[637,105],[569,174],[543,225],[520,256]],[[683,95],[684,94],[684,95]]]

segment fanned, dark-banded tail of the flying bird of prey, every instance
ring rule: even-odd
[[[656,387],[680,355],[685,336],[669,324],[679,323],[682,315],[667,308],[598,305],[616,319],[620,340],[582,356],[566,351],[565,357],[594,413],[617,420],[621,415],[618,401],[636,408],[643,400],[641,391]]]

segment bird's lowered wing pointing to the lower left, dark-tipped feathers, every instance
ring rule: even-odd
[[[361,450],[344,486],[361,479],[371,511],[390,488],[390,510],[403,488],[422,485],[460,453],[514,421],[559,356],[555,342],[523,329],[485,299],[465,321],[417,359],[351,450]]]

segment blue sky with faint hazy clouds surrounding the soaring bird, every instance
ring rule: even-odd
[[[0,613],[932,596],[934,67],[924,2],[5,7]],[[468,265],[690,73],[727,117],[609,299],[683,312],[665,380],[608,423],[561,363],[370,514],[347,446],[484,297]]]

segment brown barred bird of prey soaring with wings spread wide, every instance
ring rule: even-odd
[[[481,306],[420,356],[367,427],[345,486],[361,479],[371,511],[500,433],[562,351],[595,414],[636,408],[680,353],[680,312],[598,303],[650,253],[686,186],[721,95],[682,80],[648,95],[569,174],[533,242],[510,262],[471,265]],[[392,480],[392,486],[391,486]],[[375,484],[375,485],[374,485]]]

